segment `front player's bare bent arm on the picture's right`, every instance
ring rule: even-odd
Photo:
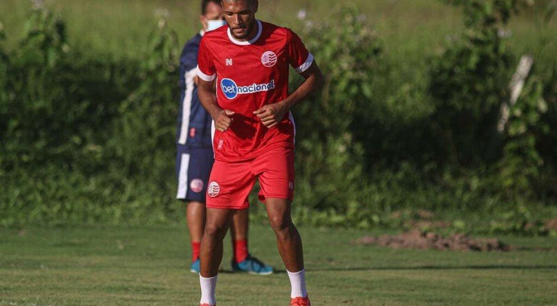
[[[292,106],[303,101],[303,99],[309,97],[312,93],[315,93],[323,87],[323,75],[316,61],[313,61],[310,68],[301,73],[301,75],[305,78],[305,81],[294,90],[294,93],[281,102],[267,104],[257,111],[254,111],[254,114],[261,119],[261,122],[263,125],[267,126],[267,128],[272,128],[278,124],[284,115],[290,111]]]

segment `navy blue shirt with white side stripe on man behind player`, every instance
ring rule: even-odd
[[[200,34],[189,39],[180,55],[180,109],[176,143],[185,145],[189,149],[212,149],[212,118],[201,105],[197,86],[193,82],[196,77],[200,41]]]

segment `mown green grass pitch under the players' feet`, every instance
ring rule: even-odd
[[[368,232],[302,228],[314,305],[556,305],[555,252],[462,253],[352,244]],[[379,234],[379,233],[375,233]],[[221,273],[219,305],[287,305],[287,276],[268,227],[252,254],[272,276]],[[500,237],[522,247],[557,238]],[[229,269],[229,239],[225,269]],[[0,230],[0,305],[196,305],[185,227]]]

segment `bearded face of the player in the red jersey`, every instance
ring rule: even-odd
[[[253,3],[250,4],[250,2]],[[245,41],[252,39],[256,35],[254,28],[256,25],[255,13],[257,12],[257,7],[258,1],[223,1],[225,20],[234,38]]]

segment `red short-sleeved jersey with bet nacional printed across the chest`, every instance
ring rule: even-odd
[[[220,108],[234,111],[227,131],[214,131],[216,160],[249,160],[277,147],[294,148],[294,118],[287,113],[279,124],[267,128],[254,111],[288,96],[288,66],[298,73],[310,68],[313,56],[288,28],[257,20],[257,34],[238,41],[222,26],[206,32],[200,42],[198,77],[216,79]]]

